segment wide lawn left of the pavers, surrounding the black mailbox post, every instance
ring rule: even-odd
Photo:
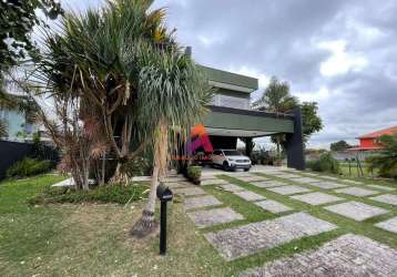
[[[157,236],[132,239],[129,230],[145,201],[129,205],[31,206],[58,176],[0,183],[1,276],[225,276],[230,267],[187,219],[169,207],[169,253]],[[162,273],[162,274],[161,274]]]

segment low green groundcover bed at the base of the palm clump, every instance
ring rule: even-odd
[[[147,197],[149,187],[143,184],[98,186],[91,191],[48,187],[29,199],[32,205],[54,203],[116,203],[126,204]]]

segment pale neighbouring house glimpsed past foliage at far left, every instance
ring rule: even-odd
[[[20,141],[30,138],[37,131],[37,126],[27,122],[24,114],[19,111],[0,110],[0,120],[8,129],[8,135],[2,137],[8,141]]]

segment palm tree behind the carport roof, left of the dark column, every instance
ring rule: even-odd
[[[279,82],[277,78],[273,76],[262,96],[253,103],[252,107],[258,111],[285,114],[297,105],[298,100],[289,94],[288,83]],[[284,134],[272,135],[272,142],[277,145],[278,158],[281,157],[281,144],[284,140]]]

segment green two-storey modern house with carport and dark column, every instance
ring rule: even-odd
[[[301,110],[282,115],[254,111],[250,106],[251,93],[258,89],[258,80],[222,70],[202,66],[208,83],[215,89],[204,120],[214,148],[236,148],[237,138],[244,141],[284,133],[287,137],[287,165],[305,168]],[[247,154],[248,148],[246,148]]]

